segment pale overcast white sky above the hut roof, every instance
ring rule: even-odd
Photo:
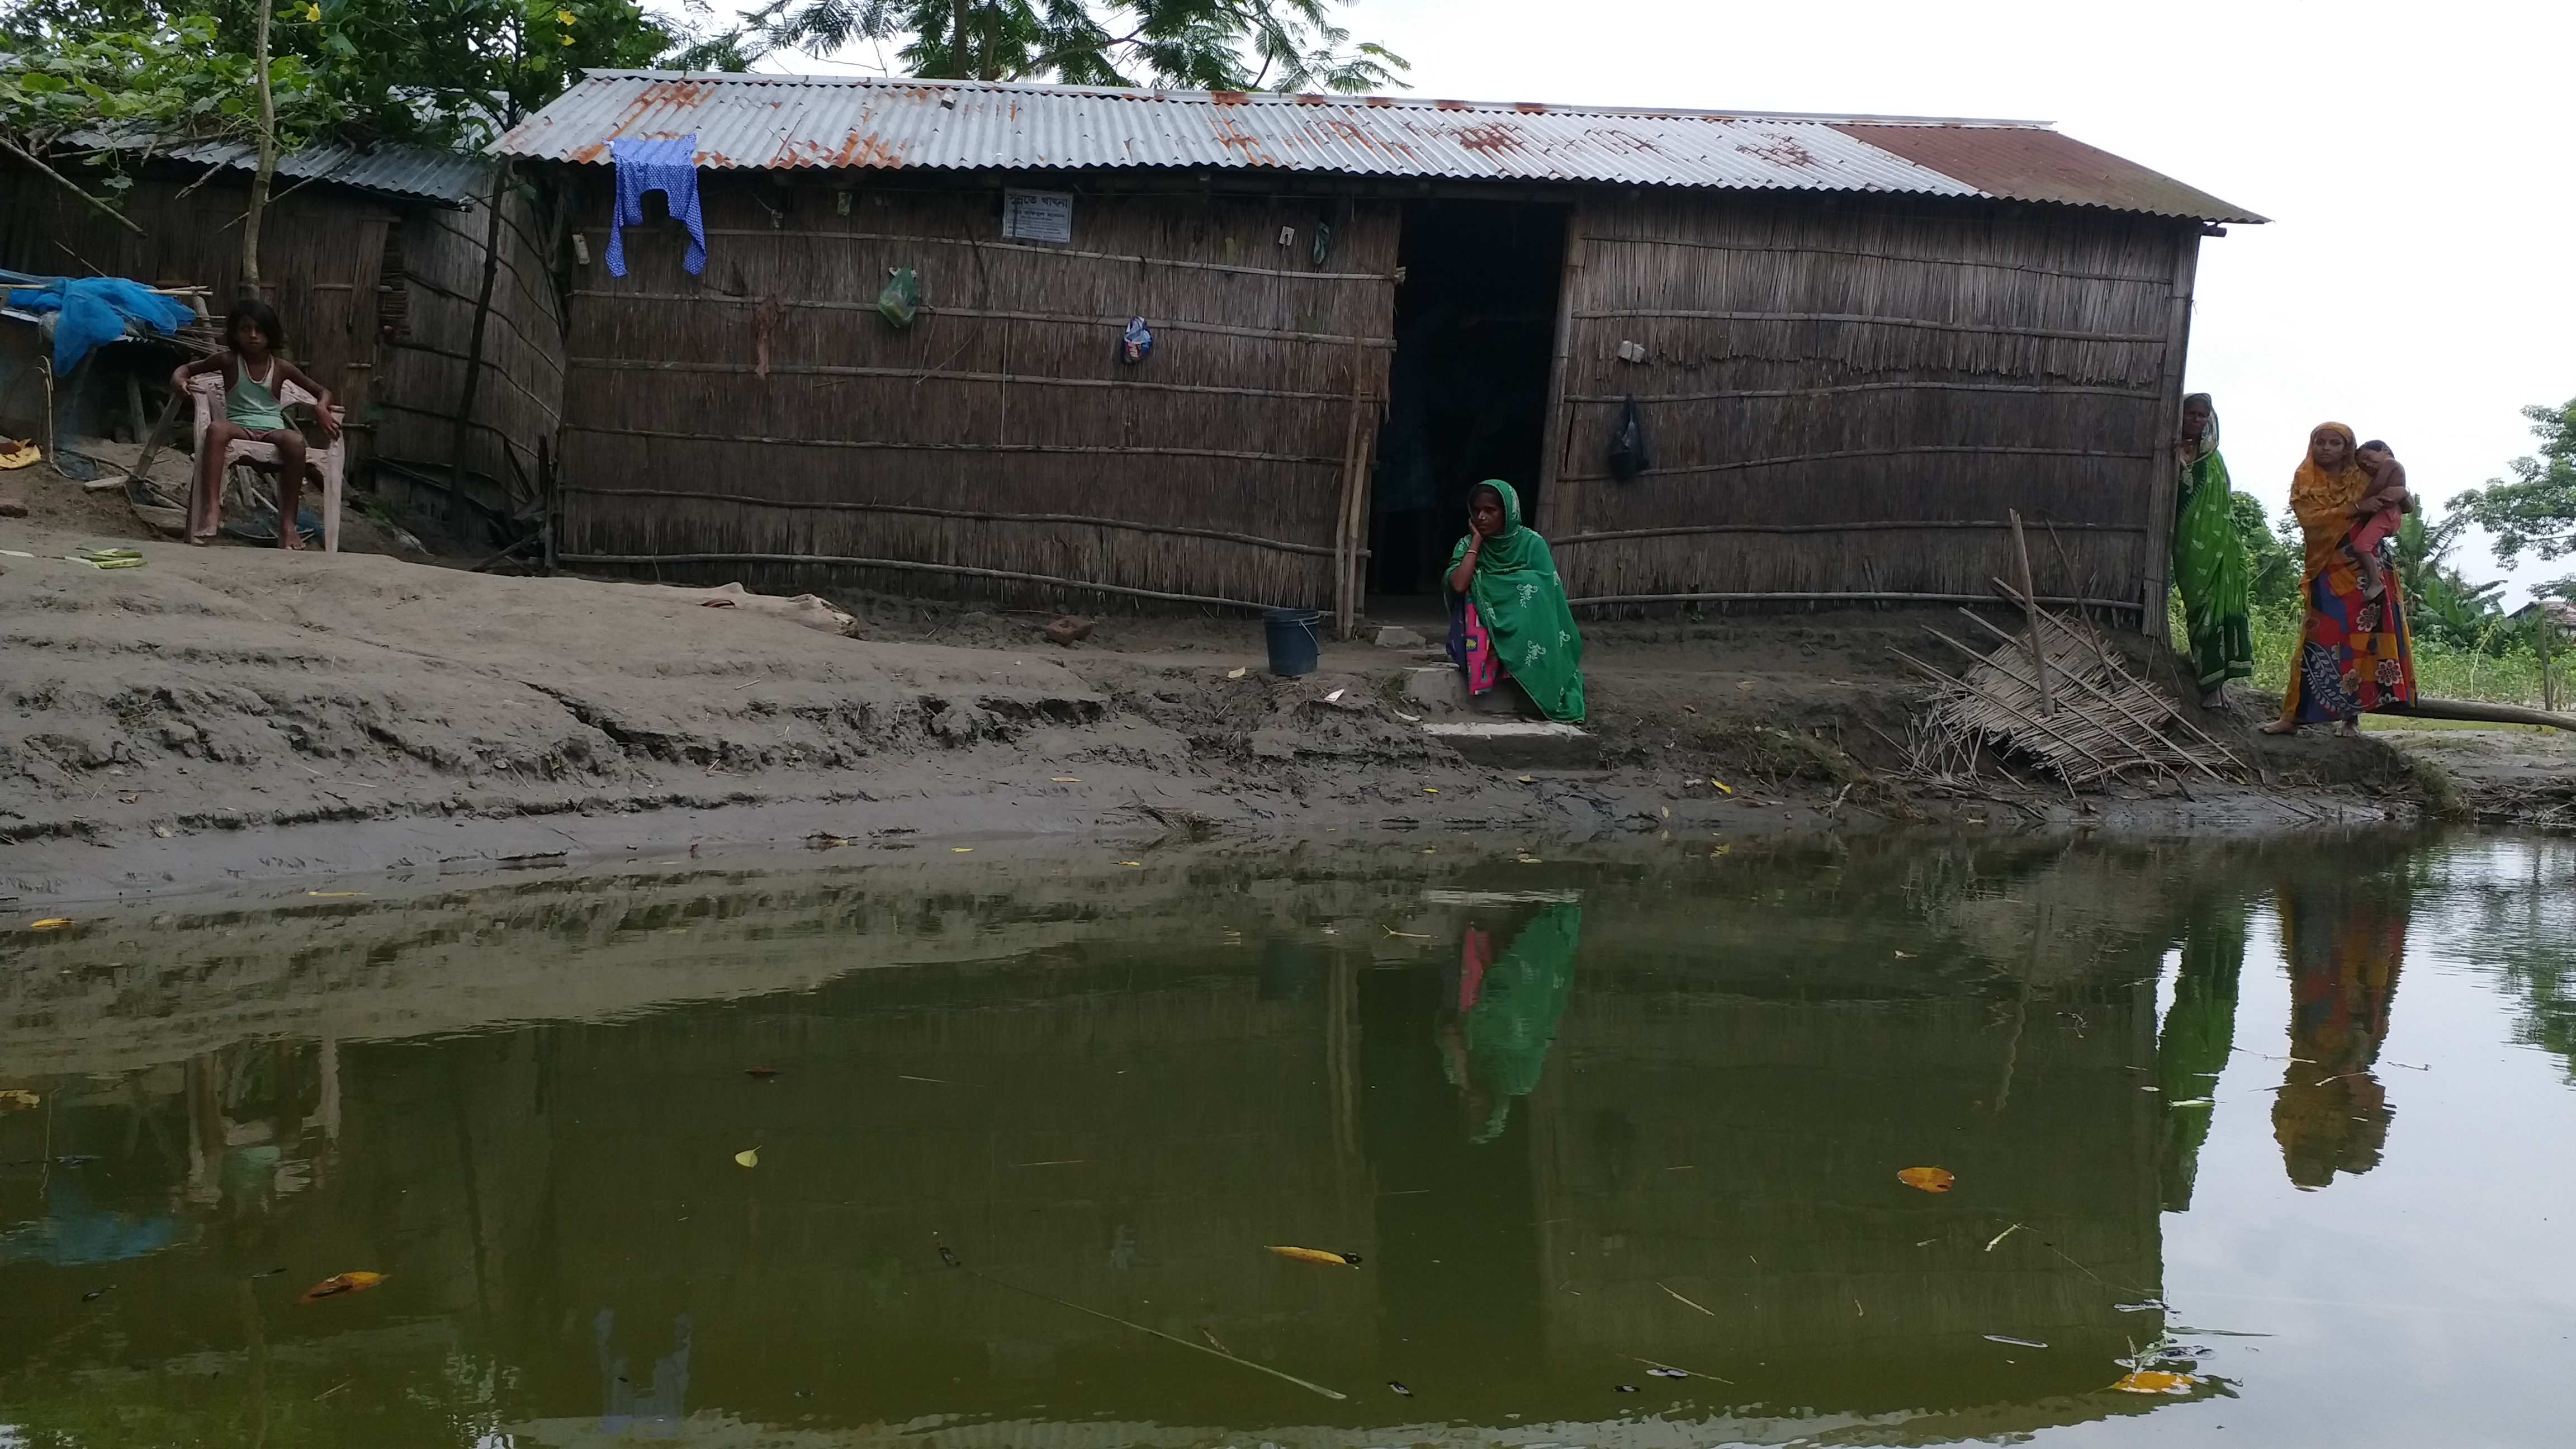
[[[2576,397],[2576,5],[1360,0],[1345,23],[1417,95],[2038,119],[2272,217],[2202,242],[2190,361],[2272,513],[2321,420],[2442,500],[2532,451],[2524,405]]]

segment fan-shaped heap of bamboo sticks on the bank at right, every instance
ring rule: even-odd
[[[1965,655],[1963,673],[1891,650],[1942,683],[1927,717],[1935,732],[1960,745],[1991,743],[2030,755],[2069,789],[2133,773],[2177,784],[2190,776],[2251,779],[2236,753],[2192,724],[2172,696],[2133,676],[2097,632],[2035,606],[2027,583],[1994,585],[2022,608],[2027,627],[2020,634],[1968,608],[1960,608],[1968,624],[1991,634],[1986,650],[1924,627]]]

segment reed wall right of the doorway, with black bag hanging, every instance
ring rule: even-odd
[[[2197,222],[1589,191],[1543,526],[1577,598],[2154,601]],[[1638,343],[1643,361],[1620,361]],[[1651,472],[1610,477],[1623,402]]]

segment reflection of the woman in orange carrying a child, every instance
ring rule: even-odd
[[[2367,1173],[2388,1145],[2388,1088],[2370,1073],[2406,957],[2406,884],[2303,879],[2280,892],[2290,967],[2290,1062],[2272,1106],[2282,1168],[2300,1189]]]

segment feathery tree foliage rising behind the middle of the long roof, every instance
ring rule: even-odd
[[[1198,90],[1383,90],[1409,62],[1332,23],[1347,0],[768,0],[729,54],[894,44],[907,75]]]

